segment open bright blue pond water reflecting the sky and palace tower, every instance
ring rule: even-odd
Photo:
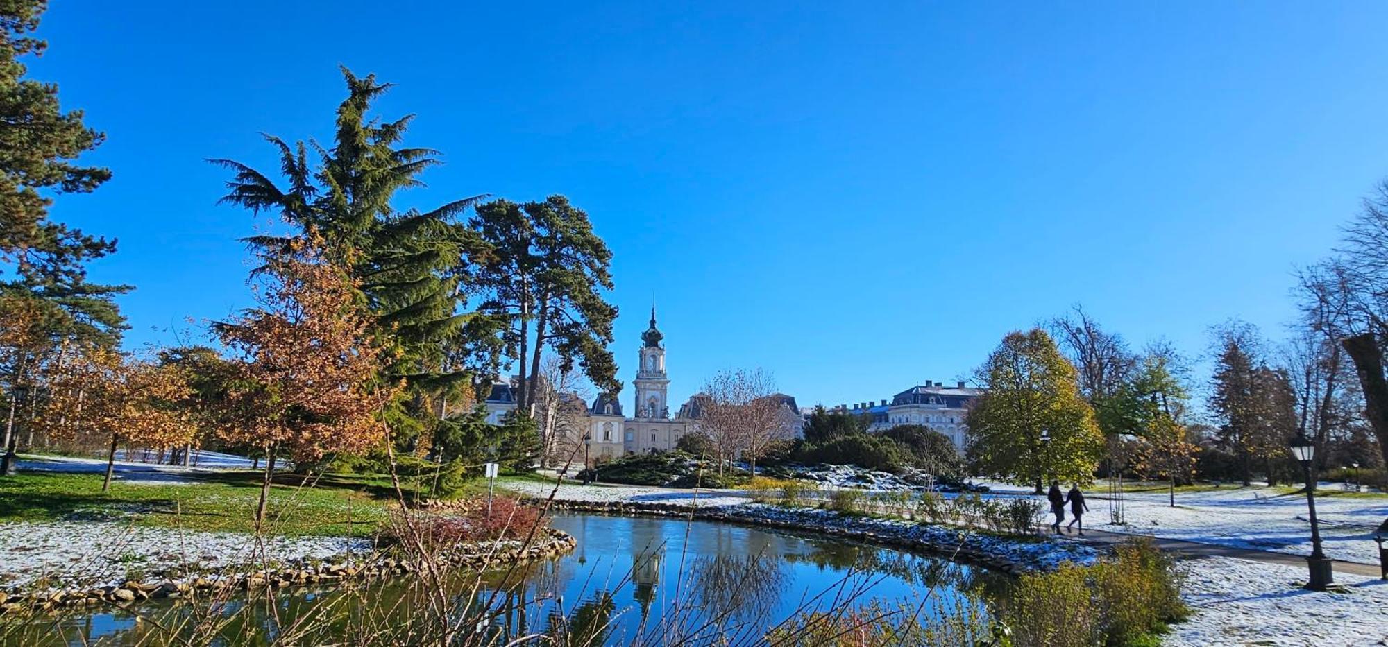
[[[609,641],[620,643],[658,629],[662,616],[686,630],[711,619],[765,630],[799,608],[827,608],[836,598],[919,604],[931,583],[940,585],[929,603],[936,604],[976,573],[809,533],[677,518],[561,516],[554,526],[579,540],[573,558],[559,565],[565,594],[572,600],[584,590],[611,591],[619,615]],[[849,576],[852,585],[845,585]]]

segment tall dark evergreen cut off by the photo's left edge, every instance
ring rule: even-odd
[[[112,299],[129,290],[86,280],[86,262],[115,251],[114,240],[49,221],[56,194],[90,192],[111,172],[75,162],[104,136],[82,111],[61,110],[56,83],[25,78],[21,58],[47,47],[33,36],[46,6],[0,3],[0,473],[14,472],[24,425],[33,437],[42,372],[71,346],[114,347],[125,319]]]

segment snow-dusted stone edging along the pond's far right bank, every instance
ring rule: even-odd
[[[544,498],[522,498],[523,503],[541,504]],[[723,523],[738,523],[745,526],[761,526],[761,528],[779,528],[784,530],[797,532],[811,532],[820,535],[831,535],[837,537],[845,537],[873,544],[884,544],[899,548],[909,548],[920,553],[927,553],[936,557],[944,557],[951,561],[972,564],[984,566],[992,571],[1004,572],[1012,576],[1017,576],[1034,571],[1045,571],[1047,566],[1041,564],[1031,564],[1022,560],[1015,560],[1008,555],[999,554],[997,550],[988,550],[987,546],[970,546],[970,539],[977,541],[979,536],[965,532],[955,530],[945,526],[930,526],[923,523],[912,522],[894,522],[890,519],[876,519],[876,518],[862,518],[862,516],[848,516],[840,515],[831,511],[822,510],[798,510],[798,508],[772,508],[777,514],[766,515],[756,514],[756,510],[766,510],[766,505],[725,505],[725,507],[688,507],[676,504],[661,504],[661,503],[640,503],[640,501],[569,501],[569,500],[554,500],[550,503],[550,511],[561,512],[595,512],[595,514],[611,514],[611,515],[633,515],[633,516],[684,516],[694,518],[700,521],[716,521]],[[930,533],[936,535],[933,540],[920,537],[922,533],[911,532],[913,528],[934,528],[940,532]],[[941,541],[944,539],[954,539],[954,543]],[[990,537],[998,543],[1008,541],[1004,537]],[[1013,541],[1015,544],[1020,541]]]

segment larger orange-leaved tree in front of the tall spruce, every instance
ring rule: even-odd
[[[215,326],[239,355],[221,433],[266,457],[257,529],[278,457],[310,462],[378,446],[386,433],[378,414],[400,393],[400,385],[378,380],[383,351],[359,292],[322,262],[312,240],[296,239],[290,255],[265,257],[260,307]]]

